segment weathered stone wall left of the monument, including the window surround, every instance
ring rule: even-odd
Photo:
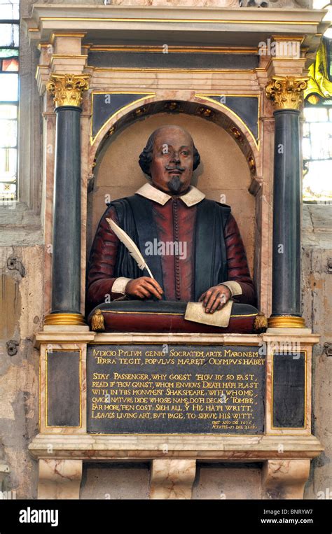
[[[22,0],[21,15],[32,1]],[[20,31],[19,202],[0,205],[0,464],[3,491],[36,498],[38,471],[27,447],[38,432],[39,351],[43,324],[43,179],[41,99],[34,74],[39,52]]]

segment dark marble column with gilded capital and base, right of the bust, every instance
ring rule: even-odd
[[[307,78],[273,76],[266,95],[275,107],[272,314],[270,328],[304,328],[301,316],[300,106]]]

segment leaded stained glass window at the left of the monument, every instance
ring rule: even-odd
[[[17,199],[20,0],[0,0],[0,202]]]

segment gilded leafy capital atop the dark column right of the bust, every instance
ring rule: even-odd
[[[266,96],[273,101],[275,109],[300,109],[307,80],[307,76],[272,76],[265,87]]]

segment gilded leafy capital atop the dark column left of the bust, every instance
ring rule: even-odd
[[[83,92],[89,88],[88,74],[51,74],[46,89],[53,94],[55,107],[80,107]]]

